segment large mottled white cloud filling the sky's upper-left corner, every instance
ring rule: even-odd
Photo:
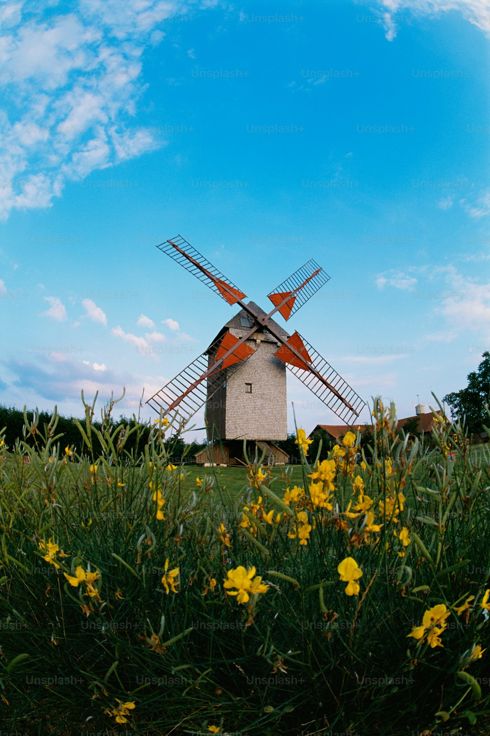
[[[142,54],[185,11],[177,0],[52,2],[49,13],[0,3],[0,219],[50,207],[67,180],[163,145],[134,124]]]

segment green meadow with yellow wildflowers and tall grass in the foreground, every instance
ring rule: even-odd
[[[2,732],[489,733],[490,453],[463,426],[426,453],[376,399],[368,450],[318,462],[299,428],[302,483],[250,458],[237,499],[168,461],[165,419],[129,455],[111,409],[77,447],[56,413],[34,447],[0,432]]]

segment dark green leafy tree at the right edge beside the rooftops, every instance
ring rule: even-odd
[[[486,406],[490,392],[490,353],[482,355],[476,371],[468,374],[468,386],[458,392],[444,396],[444,401],[451,407],[453,419],[466,417],[466,427],[472,434],[483,432],[483,423],[488,421]]]

